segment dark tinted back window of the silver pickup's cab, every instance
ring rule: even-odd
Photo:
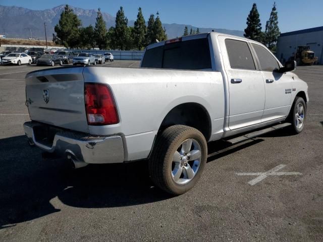
[[[148,49],[142,59],[141,67],[181,70],[211,69],[208,39],[192,39]]]

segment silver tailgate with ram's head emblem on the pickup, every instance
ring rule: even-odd
[[[26,75],[31,120],[88,133],[83,67],[54,68]]]

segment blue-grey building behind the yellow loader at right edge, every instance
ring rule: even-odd
[[[323,26],[281,34],[277,42],[277,58],[282,63],[288,61],[300,45],[308,45],[318,57],[318,64],[323,64]]]

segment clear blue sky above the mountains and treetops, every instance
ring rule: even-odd
[[[0,5],[18,6],[32,10],[51,9],[69,4],[83,9],[101,8],[102,12],[116,16],[120,6],[129,20],[137,18],[141,7],[145,20],[159,12],[163,23],[177,23],[204,28],[244,30],[252,4],[256,3],[264,30],[274,1],[267,0],[0,0]],[[279,27],[282,33],[323,26],[323,0],[276,0]],[[303,17],[305,16],[305,17]]]

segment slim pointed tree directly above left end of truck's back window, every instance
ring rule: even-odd
[[[146,45],[145,36],[147,34],[147,27],[145,19],[143,18],[141,8],[138,9],[137,20],[134,23],[133,40],[136,43],[136,47],[141,50]]]

